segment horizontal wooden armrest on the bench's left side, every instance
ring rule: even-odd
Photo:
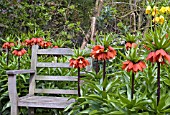
[[[26,73],[35,73],[35,70],[28,69],[28,70],[7,70],[6,73],[9,75],[16,75],[16,74],[26,74]]]

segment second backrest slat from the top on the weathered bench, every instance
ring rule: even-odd
[[[69,63],[38,62],[37,67],[72,68]]]

